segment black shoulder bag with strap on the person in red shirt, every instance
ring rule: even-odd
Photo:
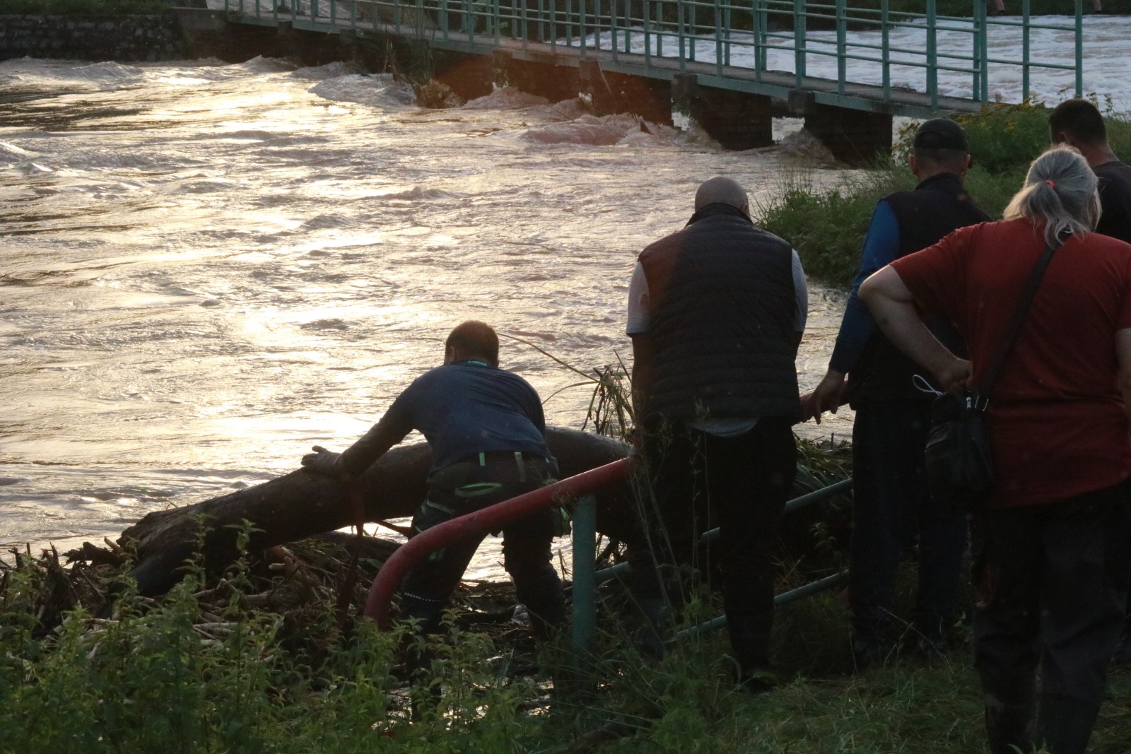
[[[993,489],[995,474],[990,452],[990,431],[986,426],[990,391],[998,380],[1005,355],[1017,339],[1053,252],[1060,245],[1060,239],[1050,243],[1033,269],[1005,329],[1005,337],[998,348],[998,355],[982,384],[966,390],[951,390],[934,399],[931,406],[931,432],[924,453],[927,491],[932,500],[974,512],[981,509]]]

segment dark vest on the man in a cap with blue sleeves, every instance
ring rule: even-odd
[[[962,182],[949,173],[933,175],[914,191],[893,193],[886,201],[899,225],[898,257],[934,245],[960,227],[991,219],[966,193]],[[927,327],[948,348],[966,353],[961,338],[947,320],[931,318]],[[930,376],[877,330],[848,375],[853,407],[877,400],[930,399],[930,395],[915,388],[912,381],[915,374]]]

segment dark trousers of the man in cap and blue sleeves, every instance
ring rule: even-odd
[[[864,640],[879,640],[889,623],[899,558],[916,534],[913,625],[939,640],[953,616],[966,517],[927,494],[923,449],[930,423],[926,400],[875,401],[856,409],[848,593],[853,632]]]

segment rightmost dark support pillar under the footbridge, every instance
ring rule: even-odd
[[[891,154],[891,115],[821,105],[812,92],[789,93],[789,110],[843,163],[861,166]]]

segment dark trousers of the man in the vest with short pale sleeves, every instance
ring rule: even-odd
[[[644,452],[651,494],[642,517],[656,561],[694,562],[699,536],[717,521],[723,604],[736,659],[743,670],[767,666],[774,621],[770,555],[796,474],[792,424],[762,417],[736,437],[666,424],[645,434]]]

